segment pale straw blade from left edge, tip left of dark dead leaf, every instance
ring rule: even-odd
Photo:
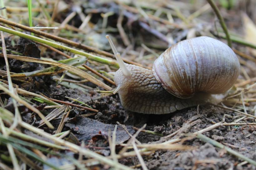
[[[48,122],[46,120],[46,118],[44,117],[44,115],[34,106],[32,106],[31,104],[27,103],[26,101],[22,100],[21,98],[19,98],[18,96],[14,95],[13,93],[11,93],[7,88],[5,88],[2,83],[0,82],[0,89],[3,90],[5,93],[7,93],[9,96],[11,96],[13,99],[15,99],[18,103],[21,103],[23,105],[25,105],[27,108],[29,108],[30,110],[32,110],[33,112],[37,113],[38,116],[46,123],[46,125],[53,129],[54,127],[52,126],[52,124],[50,122]]]

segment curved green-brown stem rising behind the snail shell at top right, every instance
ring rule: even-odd
[[[229,45],[230,48],[232,48],[232,41],[231,41],[231,39],[230,39],[227,26],[226,26],[226,24],[225,24],[225,22],[224,22],[223,17],[222,17],[221,14],[220,14],[220,11],[219,11],[218,7],[216,6],[216,4],[214,3],[213,0],[207,0],[207,1],[208,1],[208,3],[210,4],[210,6],[213,8],[213,10],[214,10],[216,16],[219,18],[219,23],[220,23],[220,25],[221,25],[221,27],[222,27],[224,33],[226,34],[227,41],[228,41],[228,45]]]

